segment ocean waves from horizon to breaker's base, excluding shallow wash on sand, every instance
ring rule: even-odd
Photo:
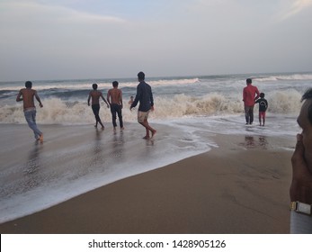
[[[228,76],[178,76],[147,77],[153,88],[156,111],[152,119],[166,121],[187,117],[241,115],[242,89],[246,77],[252,77],[254,85],[270,103],[269,115],[294,115],[299,112],[300,96],[311,86],[312,73],[254,74]],[[32,81],[44,108],[38,113],[40,124],[85,124],[93,121],[93,114],[86,106],[92,84],[97,83],[106,97],[115,79],[49,80]],[[120,83],[125,108],[130,95],[136,94],[135,78],[116,79]],[[21,103],[15,102],[24,82],[0,82],[1,123],[25,123]],[[110,111],[102,110],[104,121],[111,121]],[[125,121],[136,121],[126,109]]]

